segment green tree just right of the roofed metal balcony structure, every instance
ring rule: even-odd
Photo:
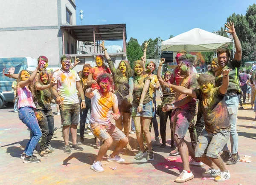
[[[133,68],[134,62],[136,60],[140,60],[140,58],[143,56],[143,49],[140,47],[137,39],[134,39],[133,37],[130,38],[127,43],[126,53],[127,58],[130,61],[131,68]]]

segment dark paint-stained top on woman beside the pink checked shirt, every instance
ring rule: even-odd
[[[40,83],[35,82],[35,87],[38,84],[40,84]],[[37,109],[46,110],[46,111],[49,111],[52,109],[50,98],[47,98],[44,96],[44,91],[38,91],[38,90],[35,91],[34,103],[35,103],[35,106]]]

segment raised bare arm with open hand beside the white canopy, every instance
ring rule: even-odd
[[[235,53],[234,59],[237,61],[240,61],[242,59],[242,46],[241,46],[239,38],[236,35],[234,22],[230,22],[230,23],[227,22],[227,24],[225,24],[225,26],[228,28],[228,30],[225,30],[225,31],[227,33],[232,34],[233,39],[234,39],[234,43],[235,43],[235,47],[236,47],[236,53]]]

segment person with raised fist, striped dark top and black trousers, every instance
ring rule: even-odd
[[[161,58],[160,60],[160,64],[157,69],[157,78],[161,78],[163,63],[165,63],[165,58]],[[163,77],[164,82],[170,83],[169,80],[171,77],[171,72],[166,71],[163,76],[164,76]],[[159,83],[163,91],[163,99],[159,107],[160,135],[162,138],[162,145],[160,146],[160,149],[164,149],[166,148],[166,124],[167,124],[168,117],[169,117],[169,120],[171,120],[172,110],[164,112],[162,108],[166,103],[171,103],[173,100],[175,100],[175,94],[171,90],[171,88],[164,85],[162,81],[159,81]],[[171,129],[171,148],[175,149],[176,147],[174,145],[173,125],[171,121],[170,121],[170,129]]]

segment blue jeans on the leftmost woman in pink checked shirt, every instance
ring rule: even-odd
[[[42,132],[38,125],[38,120],[35,117],[35,112],[31,107],[23,107],[19,109],[20,120],[29,128],[31,136],[28,144],[24,150],[26,156],[32,156],[33,150],[38,144],[39,139],[42,136]]]

